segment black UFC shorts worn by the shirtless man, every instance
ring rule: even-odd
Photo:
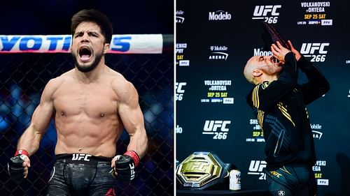
[[[116,195],[111,158],[61,154],[51,172],[47,196]]]

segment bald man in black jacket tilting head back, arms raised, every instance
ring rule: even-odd
[[[290,41],[288,45],[290,50],[277,41],[271,46],[272,56],[248,60],[244,77],[255,86],[246,100],[264,133],[269,192],[274,196],[314,196],[316,153],[306,105],[330,86],[318,68]],[[307,76],[305,84],[297,84],[299,69]]]

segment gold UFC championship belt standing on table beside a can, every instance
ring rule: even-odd
[[[176,168],[178,188],[204,190],[207,188],[228,189],[229,163],[210,152],[194,152]]]

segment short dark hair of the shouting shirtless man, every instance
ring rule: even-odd
[[[76,27],[81,22],[94,22],[99,25],[101,33],[104,35],[105,43],[111,43],[113,35],[113,26],[109,21],[109,18],[99,10],[80,10],[78,13],[71,17],[71,34],[72,36],[76,32]]]

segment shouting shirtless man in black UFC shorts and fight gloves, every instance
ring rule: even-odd
[[[106,15],[81,10],[71,19],[71,31],[76,67],[46,84],[8,170],[15,181],[27,178],[29,156],[38,150],[53,116],[57,160],[48,195],[116,195],[115,178],[134,179],[134,168],[147,149],[139,96],[123,75],[105,64],[113,35]],[[126,153],[116,156],[124,128],[130,143]]]

